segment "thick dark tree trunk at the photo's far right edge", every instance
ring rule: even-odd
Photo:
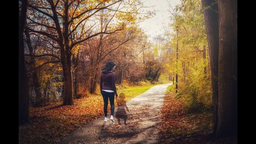
[[[219,107],[217,137],[237,136],[237,0],[219,6]]]

